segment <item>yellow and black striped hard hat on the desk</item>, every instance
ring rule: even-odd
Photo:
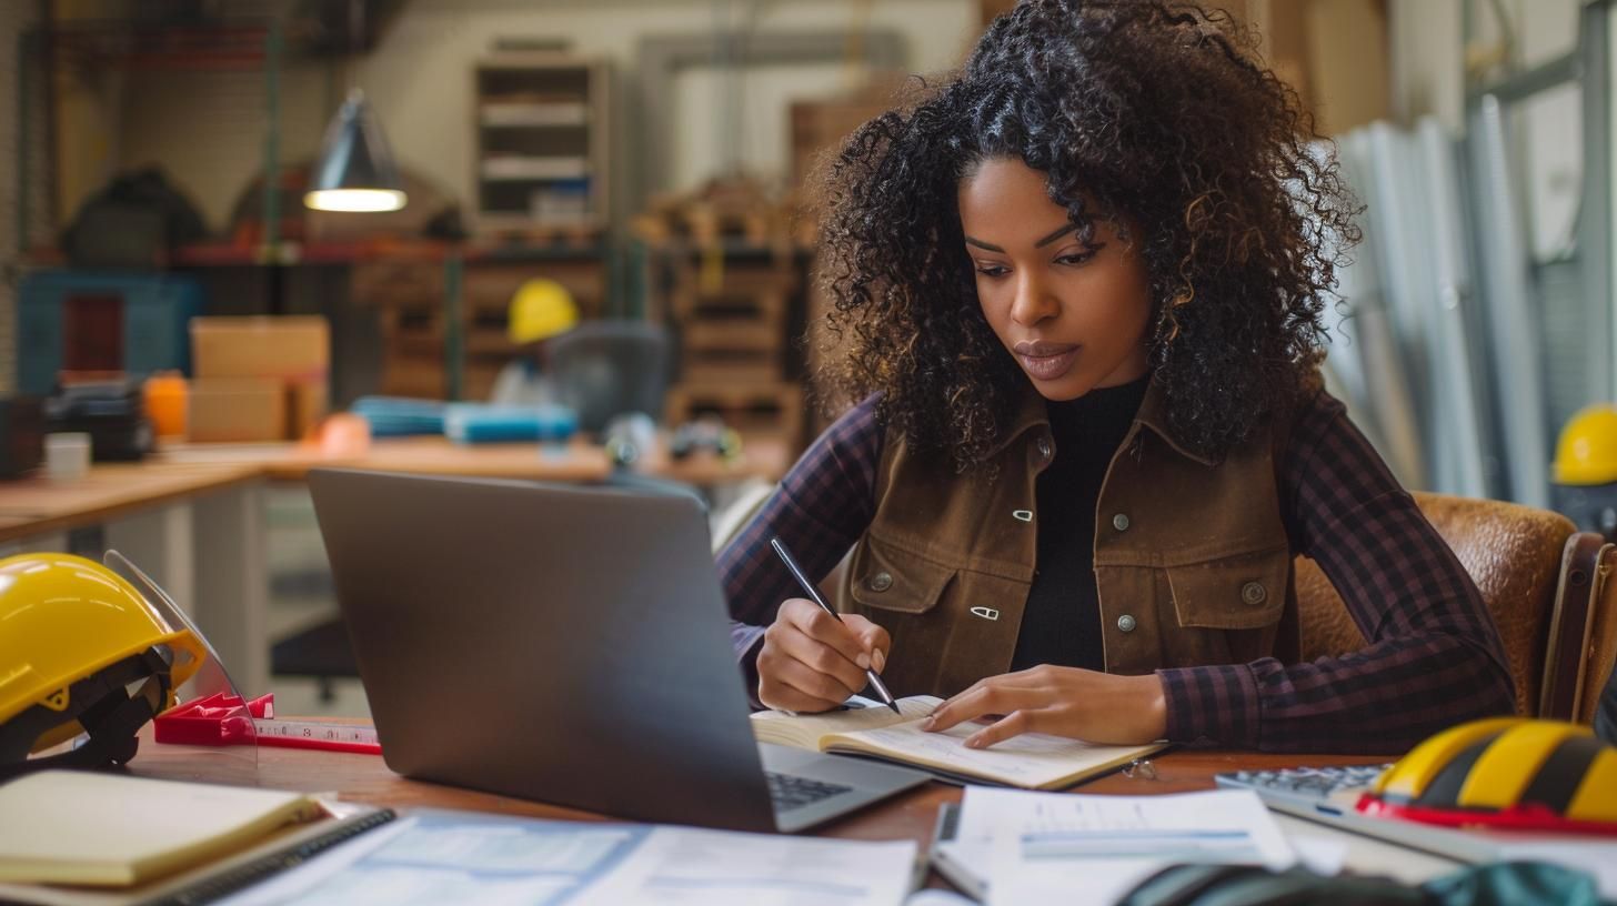
[[[1617,746],[1560,720],[1473,720],[1415,746],[1358,809],[1455,827],[1617,833]]]

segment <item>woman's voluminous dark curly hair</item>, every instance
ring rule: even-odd
[[[881,390],[878,419],[960,469],[994,447],[1027,377],[977,301],[957,189],[996,157],[1045,173],[1079,238],[1104,218],[1138,243],[1180,443],[1219,458],[1311,385],[1357,209],[1227,13],[1022,0],[964,70],[912,87],[818,171],[833,307],[817,379],[833,406]]]

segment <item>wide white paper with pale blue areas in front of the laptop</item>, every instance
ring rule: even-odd
[[[420,811],[230,906],[899,906],[915,843]]]

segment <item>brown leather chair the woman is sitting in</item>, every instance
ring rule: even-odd
[[[1559,513],[1517,503],[1423,492],[1413,497],[1483,592],[1515,680],[1517,712],[1541,715],[1546,709],[1556,710],[1541,701],[1541,692],[1546,667],[1559,667],[1549,652],[1570,644],[1552,642],[1551,628],[1557,623],[1562,595],[1568,594],[1568,552],[1581,532]],[[1297,560],[1297,608],[1303,660],[1365,646],[1329,579],[1305,558]],[[1556,626],[1560,636],[1581,636],[1581,624],[1575,629],[1572,621],[1560,623]],[[1556,707],[1567,709],[1565,717],[1570,717],[1570,704]]]

